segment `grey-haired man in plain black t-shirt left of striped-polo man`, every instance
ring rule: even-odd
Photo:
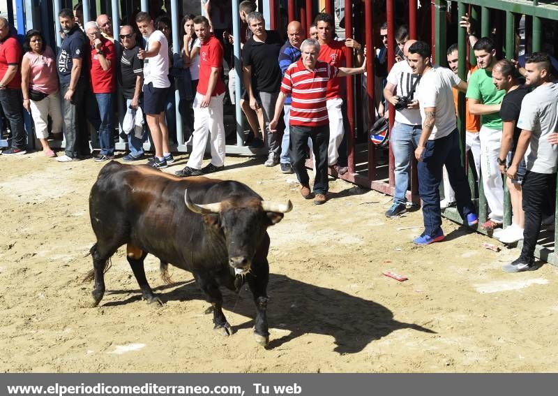
[[[281,69],[277,62],[283,42],[276,31],[265,29],[264,16],[253,12],[248,15],[248,27],[252,38],[244,44],[243,78],[250,108],[262,109],[264,113],[264,140],[267,141],[269,157],[265,166],[276,166],[279,163],[281,139],[277,133],[269,133],[268,126],[273,118],[275,103],[281,86]]]

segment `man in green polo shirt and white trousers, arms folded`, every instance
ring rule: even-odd
[[[490,38],[480,38],[473,46],[478,70],[469,78],[467,98],[469,112],[481,116],[481,173],[484,195],[490,214],[483,228],[501,227],[504,219],[504,184],[498,169],[498,155],[502,141],[502,118],[500,105],[506,94],[497,90],[492,82],[492,67],[496,64],[496,51]]]

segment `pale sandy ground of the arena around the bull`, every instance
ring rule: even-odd
[[[123,249],[91,308],[87,202],[103,164],[0,156],[0,371],[558,371],[556,267],[504,274],[517,249],[483,249],[487,237],[451,221],[446,242],[414,247],[420,211],[386,219],[388,196],[341,180],[317,207],[299,196],[294,175],[259,163],[227,159],[218,177],[294,204],[269,229],[267,350],[252,336],[246,288],[225,293],[234,335],[223,337],[190,273],[172,267],[175,283],[165,285],[152,256],[147,277],[165,303],[142,301]]]

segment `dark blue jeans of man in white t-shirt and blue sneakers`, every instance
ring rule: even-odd
[[[418,162],[418,193],[423,200],[425,235],[437,235],[442,230],[440,214],[440,191],[442,166],[448,170],[451,188],[455,191],[455,202],[462,219],[475,213],[471,201],[471,190],[465,168],[461,165],[459,132],[454,129],[449,135],[436,140],[428,140],[423,151],[423,161]]]

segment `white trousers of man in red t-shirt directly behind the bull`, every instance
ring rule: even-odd
[[[211,147],[211,163],[214,166],[225,164],[225,126],[223,125],[223,97],[225,94],[211,97],[206,108],[200,107],[204,95],[196,93],[194,98],[194,131],[192,134],[192,153],[188,159],[188,166],[201,169],[204,160],[205,147],[209,135]]]

